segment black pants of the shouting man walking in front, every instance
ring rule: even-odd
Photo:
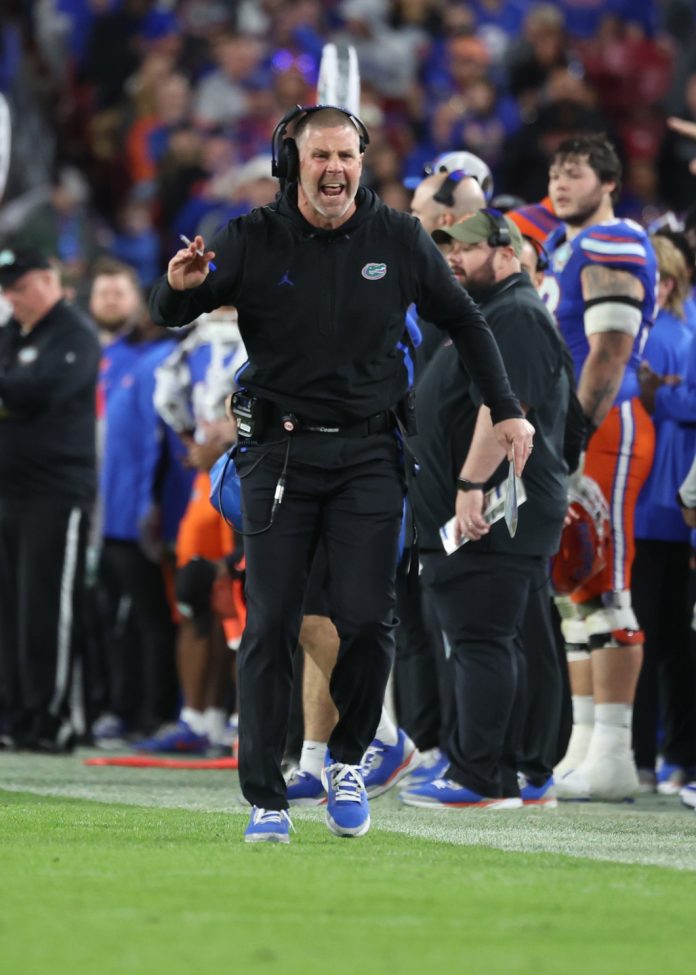
[[[287,441],[237,455],[244,530],[268,524]],[[281,760],[292,659],[312,556],[326,546],[329,605],[340,638],[330,690],[338,762],[358,764],[379,723],[393,659],[394,577],[403,472],[391,434],[340,440],[298,434],[287,486],[268,531],[244,539],[247,624],[239,650],[239,773],[249,802],[287,806]]]

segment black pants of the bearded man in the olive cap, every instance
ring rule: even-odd
[[[449,774],[480,795],[515,795],[526,694],[520,629],[545,560],[465,545],[451,556],[424,556],[424,564],[451,649],[456,725]],[[554,744],[556,734],[554,728]]]

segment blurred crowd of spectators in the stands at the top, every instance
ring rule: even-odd
[[[178,234],[210,232],[275,193],[269,137],[315,100],[322,45],[352,44],[371,133],[365,181],[406,209],[402,180],[466,148],[498,193],[546,192],[577,131],[620,148],[620,215],[694,200],[691,0],[6,0],[0,91],[13,118],[0,241],[55,254],[80,290],[99,254],[147,288]]]

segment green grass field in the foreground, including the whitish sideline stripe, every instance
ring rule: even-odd
[[[677,800],[296,815],[247,846],[224,772],[0,757],[0,972],[691,970],[696,816]],[[525,852],[527,851],[527,852]],[[659,865],[657,865],[659,864]]]

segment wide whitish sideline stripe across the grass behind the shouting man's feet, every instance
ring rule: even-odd
[[[59,783],[73,774],[79,760],[51,756],[50,774],[55,779],[52,783],[37,785],[36,771],[32,774],[34,760],[27,765],[26,756],[3,757],[3,763],[14,763],[15,760],[24,760],[24,765],[18,769],[19,775],[5,775],[0,795],[2,790],[7,790],[144,808],[234,813],[244,819],[249,816],[249,807],[243,804],[241,796],[228,789],[221,794],[219,786],[201,785],[197,799],[191,794],[182,797],[181,781],[169,770],[153,769],[159,773],[153,777],[148,770],[138,769],[137,774],[143,781],[137,790],[133,788],[133,770],[115,767],[108,770],[108,783],[88,785],[73,781],[63,785]],[[5,767],[4,771],[11,773],[12,770]],[[84,768],[80,771],[85,776],[96,777],[105,770]],[[119,772],[125,774],[117,775]],[[207,773],[192,774],[205,776]],[[175,780],[168,781],[172,776]],[[9,781],[10,778],[14,781]],[[672,806],[671,814],[641,810],[640,800],[638,808],[610,803],[561,803],[558,810],[430,812],[406,810],[380,799],[372,803],[372,829],[457,846],[483,846],[510,853],[555,853],[585,860],[696,872],[694,813],[681,806],[676,798]],[[296,825],[303,820],[323,823],[324,814],[324,809],[291,810]],[[240,819],[240,842],[241,822]],[[236,825],[231,827],[231,833],[235,829]]]

